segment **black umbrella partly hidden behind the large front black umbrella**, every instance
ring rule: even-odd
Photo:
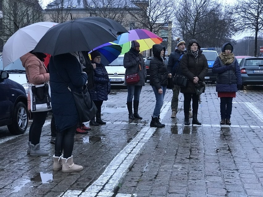
[[[114,35],[121,35],[123,33],[129,33],[121,24],[119,24],[118,22],[110,18],[91,16],[91,17],[79,18],[79,19],[104,23],[108,25],[109,27],[112,27],[111,31],[114,33]]]

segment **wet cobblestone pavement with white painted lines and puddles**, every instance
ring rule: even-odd
[[[156,129],[149,127],[155,106],[149,84],[140,96],[141,121],[128,120],[127,90],[113,89],[102,107],[107,124],[75,135],[73,160],[84,170],[74,173],[52,171],[50,114],[40,139],[48,156],[26,153],[29,126],[19,136],[0,127],[0,197],[262,197],[262,93],[262,86],[237,92],[232,125],[221,126],[220,99],[207,85],[198,109],[202,126],[184,126],[183,95],[172,119],[168,89],[165,127]]]

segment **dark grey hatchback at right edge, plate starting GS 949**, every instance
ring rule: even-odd
[[[242,85],[263,85],[263,57],[246,57],[239,64]]]

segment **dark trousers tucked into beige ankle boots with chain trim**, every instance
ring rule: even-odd
[[[77,125],[69,127],[63,131],[57,131],[56,144],[55,144],[55,156],[60,157],[64,150],[64,158],[69,158],[72,155],[74,146],[74,135],[77,129]]]

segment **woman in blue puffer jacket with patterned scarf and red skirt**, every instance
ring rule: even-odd
[[[216,92],[220,97],[220,125],[231,125],[232,101],[236,92],[242,87],[241,72],[233,54],[231,43],[224,43],[222,52],[216,58],[212,68],[216,76]]]

